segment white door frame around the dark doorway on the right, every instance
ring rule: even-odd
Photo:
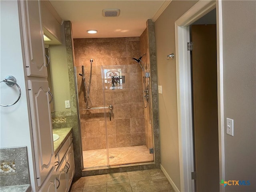
[[[176,76],[178,99],[178,136],[180,158],[180,190],[194,191],[191,172],[194,171],[192,135],[192,82],[190,69],[189,25],[216,8],[217,28],[217,78],[218,78],[218,138],[220,179],[224,170],[224,107],[223,107],[223,60],[222,60],[222,2],[200,0],[175,22]],[[220,188],[223,191],[223,188]]]

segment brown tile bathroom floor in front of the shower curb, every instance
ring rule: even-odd
[[[174,192],[160,169],[112,173],[73,180],[70,192]]]

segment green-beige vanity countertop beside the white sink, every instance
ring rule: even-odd
[[[56,155],[60,148],[63,146],[63,144],[66,141],[66,138],[68,138],[68,136],[70,136],[71,132],[72,132],[72,127],[65,127],[65,128],[55,128],[52,130],[52,132],[54,134],[57,134],[58,136],[60,136],[60,138],[56,141],[54,141],[54,155]]]

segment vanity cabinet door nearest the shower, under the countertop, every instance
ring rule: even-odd
[[[68,190],[71,186],[74,174],[75,174],[75,162],[74,162],[74,147],[73,143],[68,148],[68,152],[66,154],[66,161],[68,166],[67,179],[68,179]]]

